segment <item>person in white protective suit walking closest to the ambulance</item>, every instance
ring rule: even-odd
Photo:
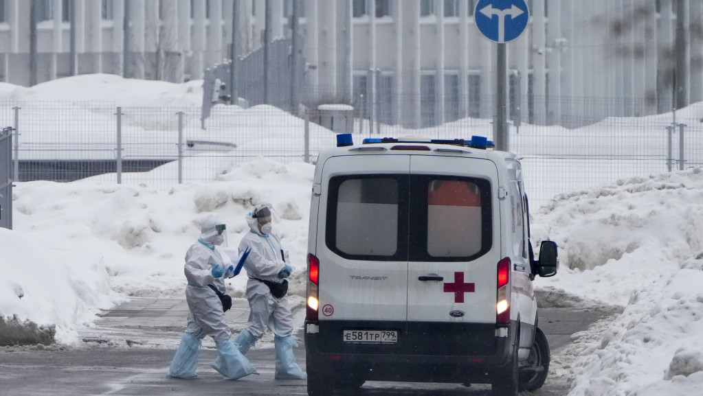
[[[271,204],[258,204],[254,211],[247,214],[246,220],[250,232],[239,244],[239,252],[251,249],[244,264],[249,281],[247,282],[247,300],[249,301],[249,320],[247,326],[235,339],[240,352],[245,354],[259,338],[266,327],[273,331],[273,343],[276,347],[277,379],[304,379],[305,373],[300,369],[293,346],[297,343],[292,338],[293,317],[288,303],[288,281],[292,268],[286,263],[287,254],[283,253],[280,239],[271,230]]]

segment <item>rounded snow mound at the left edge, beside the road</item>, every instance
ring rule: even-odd
[[[0,345],[47,343],[54,333],[57,341],[71,341],[76,327],[93,322],[99,308],[123,301],[110,291],[99,263],[80,254],[65,260],[61,250],[30,232],[0,228],[0,317],[7,316],[0,323]]]

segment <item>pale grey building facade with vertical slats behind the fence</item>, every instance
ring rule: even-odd
[[[238,56],[262,45],[266,7],[272,38],[290,37],[293,1],[308,103],[410,128],[492,117],[496,51],[474,25],[478,0],[0,0],[0,81],[202,79],[230,57],[233,25]],[[527,2],[529,28],[508,44],[511,117],[569,126],[703,100],[702,1]]]

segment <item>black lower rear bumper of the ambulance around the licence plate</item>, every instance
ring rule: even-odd
[[[512,357],[517,323],[507,336],[495,324],[425,322],[318,322],[305,334],[308,369],[364,381],[489,383]],[[307,324],[306,324],[307,329]],[[391,345],[344,343],[344,329],[396,329]]]

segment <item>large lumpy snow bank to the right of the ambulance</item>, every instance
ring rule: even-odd
[[[573,364],[570,396],[703,391],[703,172],[690,169],[562,194],[533,237],[560,246],[560,274],[539,279],[624,306]]]

